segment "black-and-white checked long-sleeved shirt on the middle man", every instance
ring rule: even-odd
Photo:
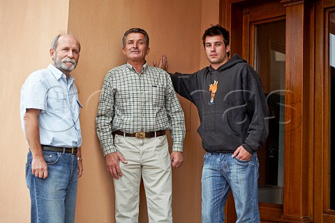
[[[104,155],[117,151],[112,137],[115,130],[170,130],[172,151],[183,151],[184,112],[168,72],[147,63],[141,74],[129,63],[107,72],[96,116],[96,132]]]

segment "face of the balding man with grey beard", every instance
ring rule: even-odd
[[[56,50],[50,49],[54,66],[69,75],[77,66],[80,45],[73,36],[60,36]]]

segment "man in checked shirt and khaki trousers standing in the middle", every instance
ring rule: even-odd
[[[114,180],[116,222],[138,222],[141,177],[149,222],[172,222],[171,167],[184,162],[184,112],[168,72],[145,60],[150,51],[147,32],[129,29],[122,41],[127,63],[107,72],[96,116]],[[171,154],[165,130],[171,132]]]

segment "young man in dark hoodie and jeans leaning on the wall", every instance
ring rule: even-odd
[[[210,66],[171,74],[174,89],[198,108],[204,155],[202,222],[224,222],[230,190],[237,222],[260,222],[258,157],[268,134],[269,111],[260,77],[244,59],[229,59],[229,32],[211,26],[202,36]],[[159,67],[166,69],[163,55]],[[156,63],[154,63],[157,66]]]

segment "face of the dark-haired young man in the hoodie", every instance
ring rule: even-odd
[[[204,43],[204,50],[208,61],[211,63],[211,67],[217,69],[219,66],[225,64],[228,61],[227,53],[230,51],[230,47],[225,46],[223,43],[223,36],[206,36]]]

